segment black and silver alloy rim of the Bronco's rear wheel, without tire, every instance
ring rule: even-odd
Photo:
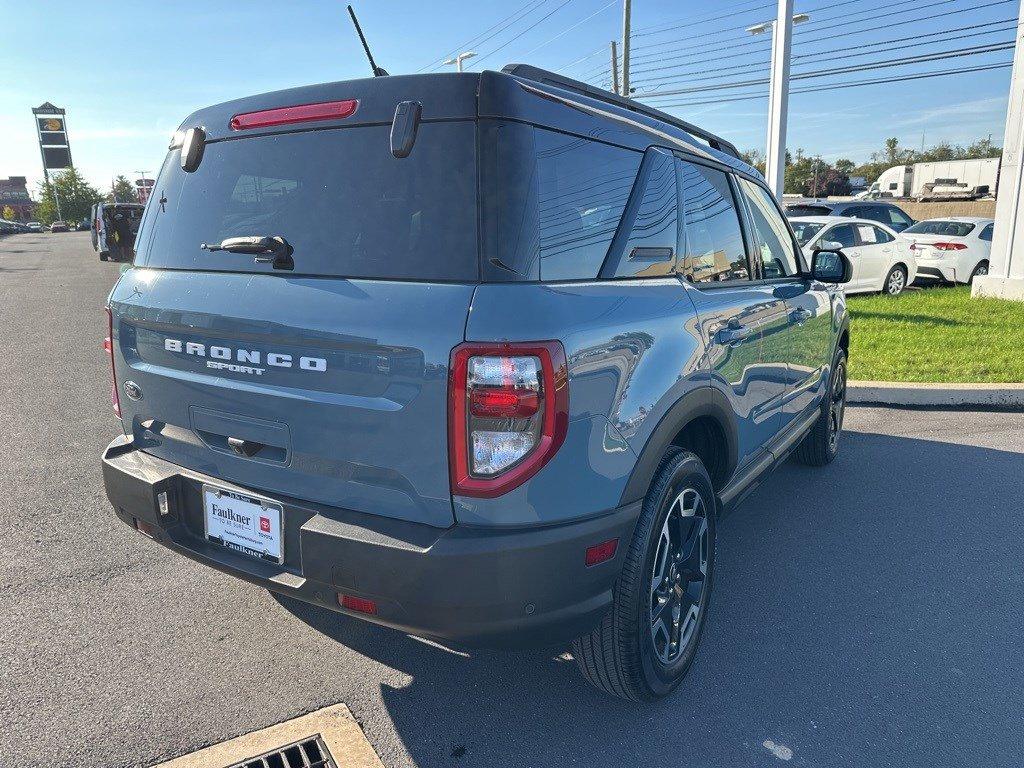
[[[708,578],[708,508],[685,488],[672,502],[654,553],[650,580],[650,636],[662,664],[676,662],[699,626]]]

